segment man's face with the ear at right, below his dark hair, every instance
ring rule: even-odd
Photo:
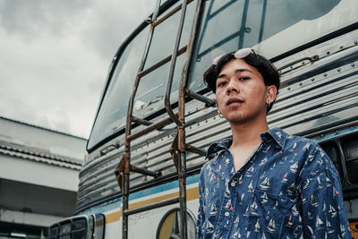
[[[276,87],[265,86],[258,70],[243,59],[228,62],[217,76],[217,108],[230,123],[266,119],[266,105],[276,93]]]

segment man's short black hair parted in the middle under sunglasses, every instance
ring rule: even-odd
[[[225,64],[234,59],[236,59],[234,57],[234,52],[227,53],[220,58],[217,64],[212,64],[209,69],[204,73],[204,81],[208,88],[214,93],[216,93],[217,90],[217,75],[221,72],[221,69]],[[250,64],[258,70],[258,72],[262,75],[263,81],[266,86],[276,86],[278,94],[278,89],[280,85],[279,73],[277,72],[276,67],[271,64],[268,59],[266,59],[262,55],[255,55],[253,53],[250,53],[249,55],[241,59],[243,59],[243,61],[245,61],[247,64]],[[270,104],[270,106],[267,107],[267,113],[271,109],[274,102],[275,100]]]

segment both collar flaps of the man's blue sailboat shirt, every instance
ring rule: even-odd
[[[284,149],[285,147],[287,136],[288,134],[279,128],[273,128],[268,130],[267,132],[260,134],[262,142],[268,141],[269,139],[273,139],[281,149]],[[209,146],[206,158],[209,158],[210,155],[215,154],[222,149],[229,149],[232,143],[233,139],[231,138],[213,142]]]

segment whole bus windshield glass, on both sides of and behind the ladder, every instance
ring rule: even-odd
[[[195,2],[193,1],[192,5]],[[202,73],[217,55],[242,47],[253,47],[260,54],[272,58],[354,24],[358,18],[356,13],[358,13],[356,0],[204,1],[204,12],[187,88],[193,91],[206,88],[202,81]],[[177,15],[175,17],[177,18]],[[175,19],[175,17],[171,18]],[[192,14],[188,14],[186,18],[186,27],[183,31],[186,32],[185,36],[189,36]],[[170,22],[170,18],[166,21]],[[124,129],[128,100],[143,55],[148,29],[147,27],[142,30],[124,49],[123,54],[118,55],[119,61],[115,66],[115,73],[108,80],[107,91],[101,99],[92,128],[88,143],[89,150],[95,149],[108,137]],[[156,61],[147,64],[155,64],[166,57],[162,51],[154,50],[154,47],[171,49],[173,41],[163,39],[173,34],[175,34],[173,28],[163,27],[158,42],[153,38],[153,50],[149,48],[149,54],[150,59]],[[166,44],[168,46],[170,44],[170,47]],[[178,81],[180,76],[182,62],[181,59],[175,69],[175,81]],[[156,104],[157,111],[164,108],[158,90],[164,88],[167,76],[161,71],[167,71],[166,68],[167,66],[164,65],[159,67],[157,72],[147,75],[147,78],[151,78],[146,80],[149,85],[140,84],[135,98],[134,113],[141,117],[153,114],[154,107],[146,107],[153,102],[161,104],[160,106]],[[174,86],[177,86],[178,82],[175,81]],[[155,85],[150,85],[153,82]],[[173,102],[175,99],[172,99]]]

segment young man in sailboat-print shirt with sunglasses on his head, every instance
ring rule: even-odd
[[[351,238],[335,166],[313,141],[269,129],[279,74],[250,48],[204,73],[232,139],[200,172],[197,238]]]

